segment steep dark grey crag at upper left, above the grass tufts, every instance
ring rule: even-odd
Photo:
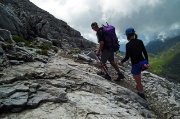
[[[31,41],[35,37],[50,41],[55,39],[60,42],[55,45],[63,49],[88,49],[95,45],[66,22],[38,8],[29,0],[3,1],[0,4],[0,15],[0,28],[9,30],[12,35],[22,35]]]

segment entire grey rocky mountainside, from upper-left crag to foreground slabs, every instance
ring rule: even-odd
[[[96,44],[29,0],[0,0],[0,16],[1,119],[179,118],[179,84],[144,71],[144,100],[128,63],[120,82],[110,64],[112,81],[97,75]]]

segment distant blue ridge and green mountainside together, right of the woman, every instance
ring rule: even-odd
[[[151,71],[180,82],[180,35],[164,41],[151,41],[146,46]]]

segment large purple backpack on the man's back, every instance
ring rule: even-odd
[[[120,45],[118,42],[118,38],[116,36],[115,27],[108,25],[108,23],[107,23],[107,26],[103,25],[102,28],[103,28],[103,33],[105,36],[107,48],[112,52],[119,51]]]

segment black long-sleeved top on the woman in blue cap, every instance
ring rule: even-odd
[[[122,62],[127,61],[129,58],[131,58],[132,65],[137,64],[144,59],[148,60],[147,51],[141,40],[132,39],[126,44],[126,56]]]

